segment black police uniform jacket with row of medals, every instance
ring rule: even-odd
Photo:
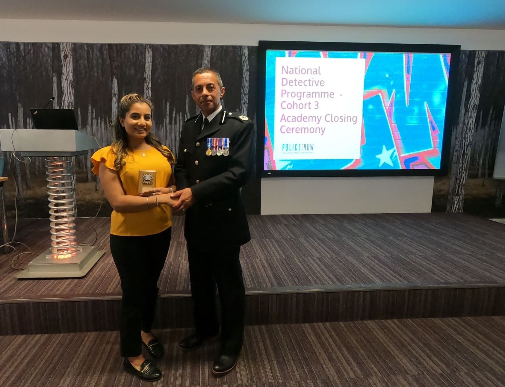
[[[184,236],[203,250],[250,240],[240,188],[252,169],[254,124],[224,109],[201,130],[203,115],[182,126],[175,166],[177,189],[191,188],[195,203],[185,212]],[[208,138],[229,138],[228,156],[207,156]]]

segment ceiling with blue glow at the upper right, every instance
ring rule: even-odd
[[[505,0],[0,0],[0,10],[3,19],[505,29]]]

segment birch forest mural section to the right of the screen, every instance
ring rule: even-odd
[[[505,217],[503,181],[491,179],[503,106],[505,52],[461,52],[449,176],[435,179],[433,211]]]

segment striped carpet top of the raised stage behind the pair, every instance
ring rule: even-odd
[[[160,294],[188,294],[183,219],[160,278]],[[109,218],[78,219],[81,244],[106,250],[81,279],[18,280],[16,253],[0,255],[0,302],[119,296],[109,251]],[[242,248],[248,291],[349,284],[505,284],[505,225],[464,214],[249,216]],[[12,229],[12,228],[11,228]],[[20,220],[17,240],[39,254],[49,246],[47,219]],[[23,250],[24,249],[24,250]],[[27,251],[21,247],[18,252]],[[22,255],[23,267],[35,255]],[[148,259],[148,257],[139,257]]]

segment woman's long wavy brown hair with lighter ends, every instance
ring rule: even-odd
[[[129,150],[128,133],[126,133],[126,129],[123,125],[121,125],[121,121],[119,119],[124,119],[126,117],[126,113],[130,111],[132,105],[137,103],[145,103],[149,106],[151,111],[153,110],[153,103],[143,95],[136,93],[125,95],[119,103],[119,112],[115,123],[116,139],[111,145],[112,151],[116,156],[116,160],[114,161],[114,169],[118,172],[123,168],[123,165],[126,164],[124,159],[128,156]],[[145,142],[151,147],[156,148],[163,156],[167,158],[170,164],[175,164],[174,154],[169,149],[163,148],[161,141],[153,136],[151,132],[145,136]]]

